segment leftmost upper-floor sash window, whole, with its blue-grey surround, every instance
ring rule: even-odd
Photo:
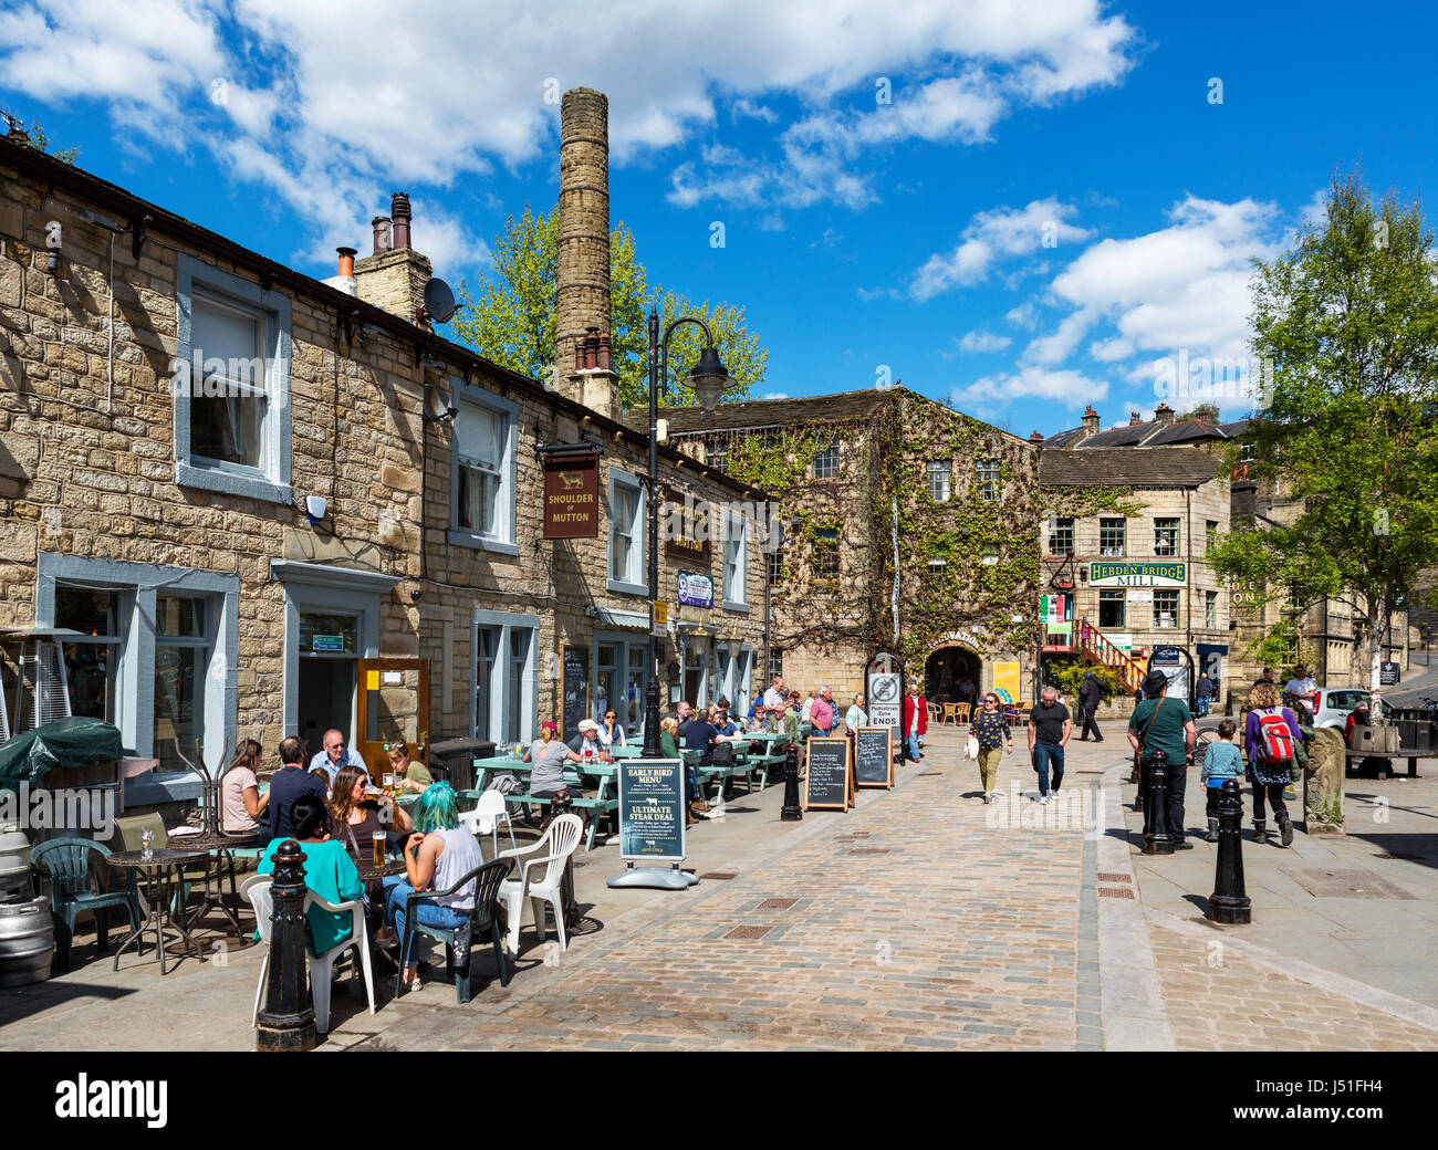
[[[289,300],[180,254],[175,302],[175,482],[289,503]]]

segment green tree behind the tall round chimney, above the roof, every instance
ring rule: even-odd
[[[454,321],[454,332],[480,355],[535,380],[549,380],[554,362],[555,252],[558,208],[535,216],[529,206],[495,237],[495,267],[475,290],[460,283],[469,308]],[[663,288],[650,289],[636,254],[634,233],[623,223],[610,230],[610,362],[618,375],[620,404],[649,402],[649,309],[659,308],[660,331],[680,315],[703,319],[719,356],[735,380],[725,398],[743,398],[764,380],[769,354],[745,325],[743,308],[728,303],[695,306]],[[692,323],[669,341],[670,402],[692,404],[695,394],[683,377],[699,358],[700,332]]]

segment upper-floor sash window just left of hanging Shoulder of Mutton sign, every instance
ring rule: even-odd
[[[449,542],[518,555],[515,420],[518,407],[477,387],[454,388],[454,509]]]

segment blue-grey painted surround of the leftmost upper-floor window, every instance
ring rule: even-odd
[[[257,313],[265,322],[265,424],[260,467],[196,456],[190,447],[191,401],[194,387],[194,296],[210,298],[224,306]],[[171,380],[174,400],[175,484],[206,492],[220,492],[265,503],[292,503],[290,487],[290,356],[292,306],[289,296],[262,288],[230,272],[221,272],[194,256],[175,256],[175,372]],[[203,371],[201,356],[200,368]],[[200,398],[204,398],[201,394]],[[203,461],[200,461],[203,460]]]

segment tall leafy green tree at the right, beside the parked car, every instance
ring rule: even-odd
[[[1260,601],[1346,599],[1378,690],[1389,611],[1438,564],[1438,283],[1418,201],[1334,175],[1323,224],[1255,262],[1252,346],[1270,401],[1251,474],[1299,512],[1225,536],[1221,572]],[[1276,635],[1274,638],[1288,638]]]

